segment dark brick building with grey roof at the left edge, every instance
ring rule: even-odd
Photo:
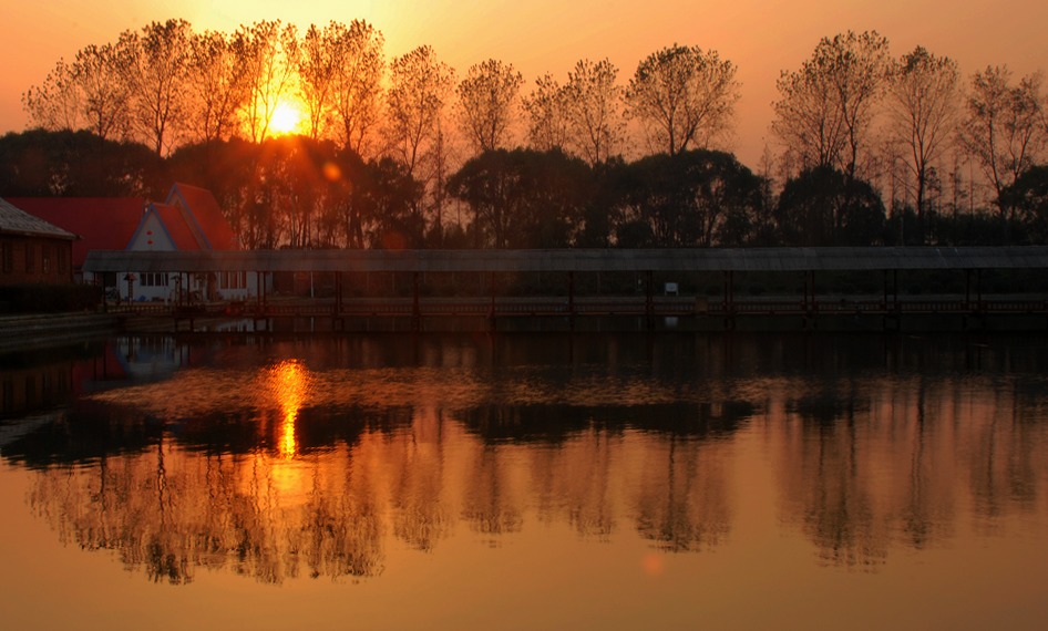
[[[0,286],[73,280],[76,235],[0,199]]]

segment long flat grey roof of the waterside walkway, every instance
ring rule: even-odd
[[[832,271],[1048,269],[1048,247],[89,252],[85,271]]]

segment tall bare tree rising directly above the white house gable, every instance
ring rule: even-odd
[[[152,22],[141,34],[121,34],[123,69],[132,94],[132,123],[157,155],[169,151],[185,116],[186,66],[192,27],[185,20]]]

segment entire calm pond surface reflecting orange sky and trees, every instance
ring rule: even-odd
[[[4,629],[1044,629],[1048,338],[0,364]]]

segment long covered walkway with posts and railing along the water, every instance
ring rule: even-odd
[[[330,316],[333,321],[350,317],[410,318],[411,329],[421,330],[425,318],[483,316],[491,320],[508,317],[568,318],[574,329],[576,317],[638,316],[650,327],[658,317],[713,316],[733,328],[739,316],[798,314],[809,321],[826,313],[865,313],[884,318],[885,328],[897,328],[904,313],[958,313],[982,318],[993,313],[1048,316],[1045,296],[1023,299],[986,300],[983,273],[989,270],[1048,270],[1048,247],[970,247],[970,248],[748,248],[748,249],[562,249],[562,250],[256,250],[256,251],[176,251],[132,252],[92,251],[84,269],[95,272],[142,270],[171,275],[240,271],[258,275],[257,287],[280,272],[330,275],[333,296],[326,302],[294,304],[270,303],[260,292],[254,306],[245,306],[253,317]],[[948,298],[901,300],[901,271],[955,271],[963,275],[963,294]],[[819,275],[861,271],[883,276],[881,296],[871,299],[828,300],[820,292]],[[427,275],[472,273],[490,279],[486,298],[433,298],[425,290]],[[566,279],[554,296],[504,296],[496,289],[501,273],[555,272]],[[578,296],[576,276],[631,272],[641,279],[639,291],[612,296]],[[708,296],[686,297],[676,283],[657,287],[656,275],[716,272],[722,277],[720,300]],[[761,272],[803,275],[803,294],[793,299],[736,296],[736,276]],[[411,279],[408,297],[386,296],[367,300],[346,296],[349,275],[400,273]],[[672,286],[672,287],[670,287]],[[634,288],[637,289],[637,288]],[[938,293],[928,287],[926,293]],[[636,296],[635,293],[639,293]],[[497,294],[497,296],[496,296]],[[185,310],[193,306],[176,306]],[[191,311],[202,310],[197,306]],[[894,324],[893,324],[894,321]]]

